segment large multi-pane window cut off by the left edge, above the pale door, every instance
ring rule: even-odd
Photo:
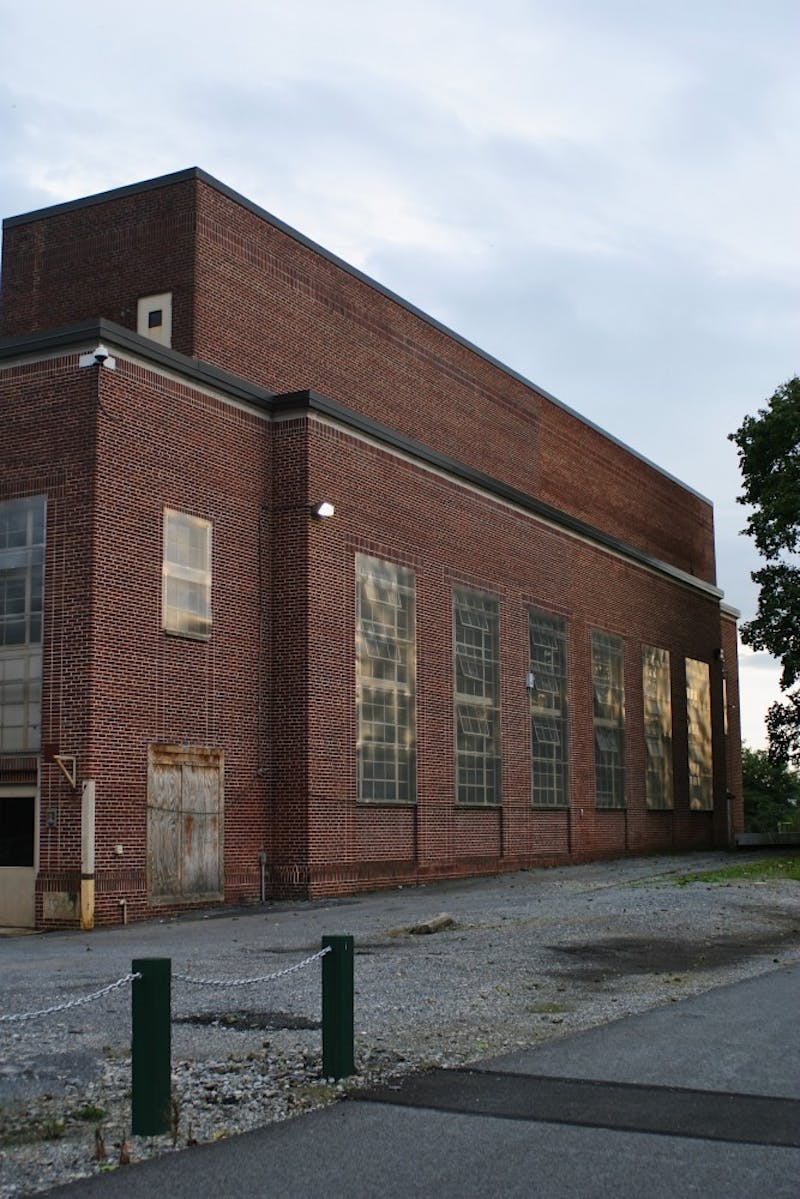
[[[42,736],[43,495],[0,504],[0,753]]]

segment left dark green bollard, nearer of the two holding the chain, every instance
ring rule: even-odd
[[[131,1132],[152,1137],[172,1126],[170,958],[131,965]]]

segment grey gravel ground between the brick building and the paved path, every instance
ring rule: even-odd
[[[736,863],[759,854],[738,854]],[[462,1065],[800,959],[800,884],[694,882],[728,854],[627,858],[92,934],[0,939],[2,1012],[85,995],[136,957],[247,978],[355,936],[357,1074],[321,1077],[320,968],[267,986],[173,983],[173,1132],[130,1134],[130,986],[0,1024],[0,1199],[215,1140],[365,1084]],[[440,912],[450,927],[408,932]],[[100,1146],[100,1149],[98,1149]],[[104,1151],[106,1156],[102,1156]]]

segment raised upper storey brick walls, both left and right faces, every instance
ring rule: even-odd
[[[175,349],[314,388],[698,577],[708,504],[277,225],[194,179],[12,224],[0,331],[174,294]]]

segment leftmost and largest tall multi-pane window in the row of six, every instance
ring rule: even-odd
[[[359,800],[416,799],[415,579],[411,571],[356,555]]]

